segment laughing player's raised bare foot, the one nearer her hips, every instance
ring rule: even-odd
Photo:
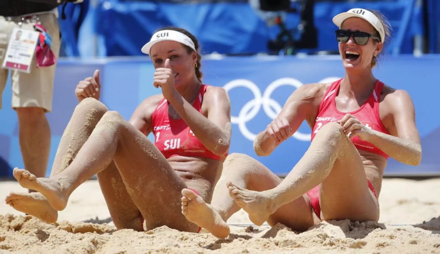
[[[231,182],[226,185],[229,195],[249,214],[249,219],[255,225],[261,226],[276,211],[272,199],[265,196],[263,192],[242,189]]]

